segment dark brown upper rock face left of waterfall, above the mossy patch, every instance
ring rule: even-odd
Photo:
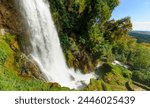
[[[17,36],[20,49],[24,53],[31,52],[31,48],[26,47],[30,46],[29,36],[16,0],[0,0],[0,34],[4,34],[3,31]]]

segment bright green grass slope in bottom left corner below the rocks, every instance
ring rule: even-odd
[[[69,90],[65,87],[51,86],[52,83],[45,83],[37,79],[25,79],[12,69],[0,67],[0,90],[4,91],[50,91]]]

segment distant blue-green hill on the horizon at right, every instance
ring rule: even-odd
[[[150,31],[132,31],[129,32],[129,35],[137,38],[138,43],[150,43]]]

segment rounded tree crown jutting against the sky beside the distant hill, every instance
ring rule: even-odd
[[[128,32],[132,30],[132,23],[130,17],[125,17],[117,21],[108,21],[105,27],[107,29],[104,34],[105,40],[114,43],[128,36]]]

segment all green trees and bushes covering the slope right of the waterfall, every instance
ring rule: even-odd
[[[68,66],[88,73],[104,63],[99,72],[102,79],[92,79],[86,90],[104,90],[105,83],[116,90],[125,90],[125,83],[131,79],[149,86],[150,45],[138,44],[129,36],[132,31],[130,17],[109,20],[119,0],[49,2]],[[127,65],[128,69],[113,67],[114,60]],[[104,73],[109,68],[109,72]],[[116,87],[119,84],[123,88]]]

